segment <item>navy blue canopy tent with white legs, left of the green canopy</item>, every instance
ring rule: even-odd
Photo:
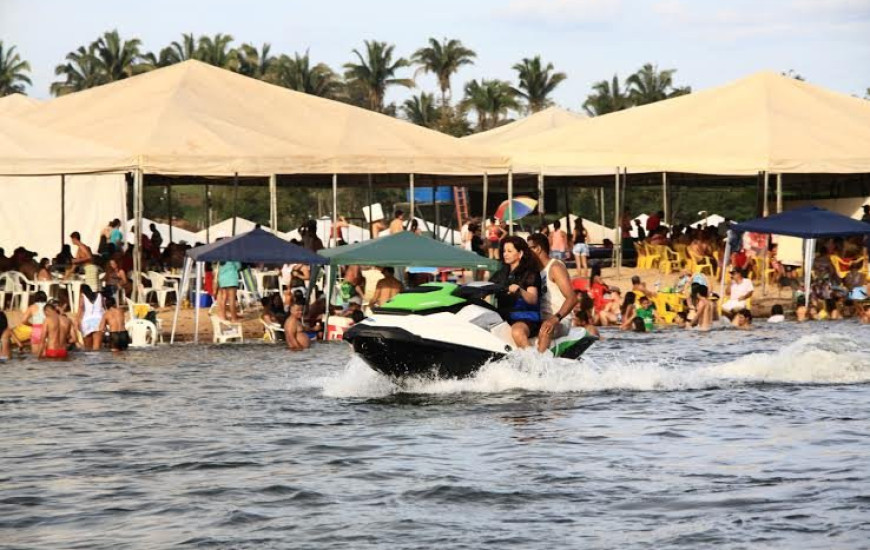
[[[329,260],[311,252],[306,248],[289,243],[276,237],[268,231],[255,227],[252,231],[241,233],[229,239],[191,248],[187,251],[184,262],[184,274],[181,288],[184,289],[190,278],[191,268],[196,265],[196,296],[202,292],[202,275],[204,262],[237,261],[251,264],[282,265],[288,263],[325,265]],[[195,300],[193,341],[199,341],[199,300]],[[172,336],[175,341],[175,326],[178,323],[178,311],[181,300],[175,306],[175,316],[172,319]]]

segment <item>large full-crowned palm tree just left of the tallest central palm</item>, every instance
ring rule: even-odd
[[[368,108],[372,111],[384,111],[384,95],[390,86],[412,88],[414,81],[408,78],[396,78],[396,71],[409,65],[405,58],[393,61],[395,46],[377,40],[365,41],[365,56],[354,49],[359,63],[345,63],[345,78],[359,85],[368,99]]]

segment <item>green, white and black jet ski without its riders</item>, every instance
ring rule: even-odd
[[[411,288],[353,325],[344,341],[387,376],[465,378],[516,349],[510,325],[485,300],[500,289],[490,283]],[[550,352],[577,359],[596,340],[586,330],[572,328],[551,343]]]

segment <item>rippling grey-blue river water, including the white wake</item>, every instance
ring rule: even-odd
[[[344,344],[0,365],[2,548],[868,548],[870,328],[605,333],[396,386]]]

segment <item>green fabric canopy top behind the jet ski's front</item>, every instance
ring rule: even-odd
[[[362,243],[321,250],[332,265],[376,265],[391,267],[462,267],[498,269],[499,263],[473,252],[420,237],[409,231]]]

